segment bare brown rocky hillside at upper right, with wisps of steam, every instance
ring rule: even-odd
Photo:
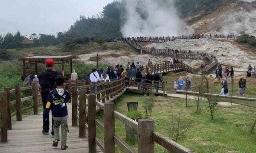
[[[197,33],[256,35],[256,1],[226,4],[191,23],[190,27]]]

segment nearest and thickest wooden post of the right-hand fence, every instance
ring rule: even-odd
[[[138,153],[154,153],[154,121],[152,119],[138,120]]]

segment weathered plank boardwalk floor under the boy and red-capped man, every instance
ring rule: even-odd
[[[8,142],[0,143],[0,153],[88,153],[88,132],[86,138],[79,138],[78,127],[72,127],[71,103],[68,103],[68,128],[67,150],[52,147],[52,135],[42,134],[42,112],[23,118],[22,121],[12,124],[12,130],[8,130]],[[51,116],[51,115],[50,115]],[[50,126],[51,126],[50,120]],[[61,135],[61,130],[60,130]],[[97,147],[97,152],[101,153]]]

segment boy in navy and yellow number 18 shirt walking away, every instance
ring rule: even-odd
[[[49,120],[49,112],[52,110],[52,117],[54,119],[54,141],[52,146],[58,147],[58,141],[60,141],[60,127],[61,127],[61,149],[66,150],[68,146],[67,132],[68,130],[68,107],[67,102],[70,100],[68,91],[65,90],[64,82],[65,78],[62,75],[58,75],[55,78],[57,88],[54,88],[48,96],[46,108],[44,109],[44,120]]]

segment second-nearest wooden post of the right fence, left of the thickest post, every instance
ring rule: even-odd
[[[104,103],[104,152],[115,153],[115,118],[114,103]],[[154,143],[154,142],[153,142]],[[146,153],[146,152],[145,152]]]

